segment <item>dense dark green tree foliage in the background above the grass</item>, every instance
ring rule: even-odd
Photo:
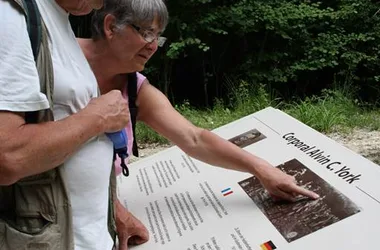
[[[370,102],[380,93],[374,1],[168,0],[167,6],[168,42],[144,73],[172,100],[210,105],[230,97],[241,80],[283,98],[333,85],[355,87]],[[78,35],[88,34],[88,23],[73,19]]]

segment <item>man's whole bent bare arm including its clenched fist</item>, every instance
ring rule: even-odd
[[[127,107],[114,90],[60,121],[26,124],[22,114],[0,112],[0,185],[57,167],[91,137],[122,129]]]

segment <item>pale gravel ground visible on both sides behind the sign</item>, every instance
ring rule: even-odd
[[[349,134],[332,133],[328,136],[345,147],[380,165],[380,131],[355,129]],[[164,150],[171,145],[140,145],[140,159]],[[132,158],[131,161],[137,161]]]

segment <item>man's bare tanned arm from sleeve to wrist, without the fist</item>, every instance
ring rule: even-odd
[[[25,124],[20,114],[0,112],[0,185],[62,164],[103,129],[96,117],[80,114],[57,122]]]

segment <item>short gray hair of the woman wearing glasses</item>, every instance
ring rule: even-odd
[[[169,14],[163,0],[104,0],[104,6],[93,13],[92,38],[101,39],[104,34],[104,18],[112,14],[116,19],[116,28],[127,24],[146,27],[157,18],[160,30],[168,23]]]

